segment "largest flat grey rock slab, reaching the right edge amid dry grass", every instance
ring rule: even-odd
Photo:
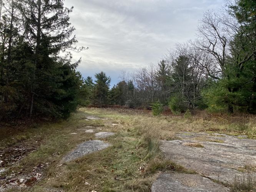
[[[245,165],[256,166],[255,139],[191,132],[177,135],[182,139],[161,141],[161,150],[166,158],[200,175],[232,184],[235,177],[244,176],[239,170]],[[214,140],[218,142],[213,142]],[[190,143],[200,143],[204,147],[188,146]],[[256,177],[255,172],[251,174]]]

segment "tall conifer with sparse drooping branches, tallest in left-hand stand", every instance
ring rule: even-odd
[[[34,53],[33,70],[30,74],[32,79],[30,117],[33,115],[34,108],[45,112],[41,110],[42,100],[45,101],[43,103],[46,104],[46,108],[51,108],[52,104],[58,108],[60,104],[60,111],[63,111],[65,108],[62,106],[63,103],[55,102],[60,99],[58,97],[70,96],[66,89],[71,85],[67,87],[58,85],[64,85],[66,81],[75,78],[75,68],[80,60],[72,64],[69,52],[66,52],[65,57],[61,57],[60,53],[84,49],[74,46],[77,42],[75,36],[72,36],[75,28],[69,23],[69,13],[72,8],[65,8],[63,0],[25,0],[24,2],[27,6],[20,5],[24,18],[24,35],[29,40]],[[48,97],[48,95],[51,96]]]

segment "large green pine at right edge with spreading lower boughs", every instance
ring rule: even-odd
[[[209,53],[216,55],[215,58],[221,66],[219,71],[223,75],[218,78],[211,75],[212,78],[218,80],[217,84],[213,82],[213,88],[209,91],[218,94],[220,106],[227,106],[230,113],[233,113],[234,108],[239,110],[247,108],[250,113],[256,113],[254,97],[256,91],[256,85],[254,85],[256,84],[255,8],[256,3],[253,0],[238,0],[234,1],[234,4],[229,2],[227,10],[229,15],[218,16],[218,22],[211,25],[216,31],[218,41],[215,42],[217,42],[216,45],[218,43],[221,45],[222,49],[219,50],[222,55],[217,51]],[[210,94],[205,95],[210,101]]]

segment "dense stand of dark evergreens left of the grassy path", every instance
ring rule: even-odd
[[[0,0],[0,121],[64,118],[77,107],[77,42],[63,0]]]

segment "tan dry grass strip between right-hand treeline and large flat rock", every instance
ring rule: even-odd
[[[184,118],[184,115],[167,114],[154,117],[149,110],[137,109],[89,109],[112,116],[128,116],[133,122],[143,127],[156,129],[151,132],[157,133],[160,139],[174,139],[175,132],[218,132],[231,135],[247,135],[249,138],[256,138],[256,115],[252,114],[210,114],[206,111],[193,111],[191,118]]]

